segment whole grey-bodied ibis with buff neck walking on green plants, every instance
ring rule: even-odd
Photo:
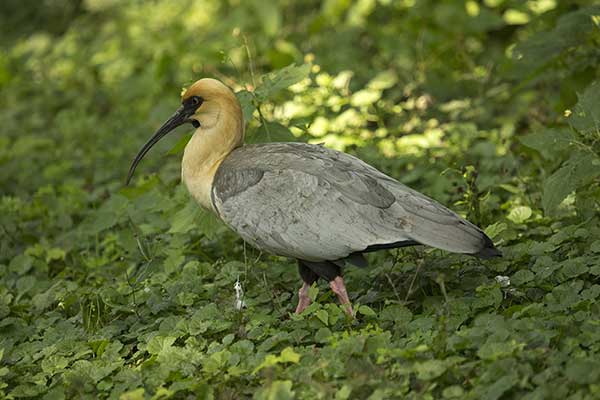
[[[477,226],[356,157],[306,143],[244,145],[240,103],[215,79],[184,92],[133,160],[127,183],[150,148],[186,123],[195,128],[181,163],[189,193],[252,246],[298,261],[296,313],[310,305],[309,288],[321,278],[352,315],[342,268],[366,266],[367,252],[423,244],[500,255]]]

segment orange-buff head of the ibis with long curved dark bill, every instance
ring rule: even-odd
[[[208,131],[217,125],[223,115],[236,124],[241,124],[239,129],[243,135],[240,104],[231,89],[216,79],[204,78],[196,81],[183,92],[181,106],[175,114],[158,128],[135,156],[129,168],[126,184],[129,184],[135,168],[150,148],[169,132],[185,123],[192,124],[197,130]]]

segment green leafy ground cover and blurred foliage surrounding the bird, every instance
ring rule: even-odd
[[[0,5],[0,397],[600,397],[600,7],[586,0]],[[485,228],[293,315],[290,260],[180,184],[182,86],[247,141],[355,154]]]

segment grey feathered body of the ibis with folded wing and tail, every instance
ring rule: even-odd
[[[307,261],[404,241],[473,254],[491,244],[446,207],[355,157],[317,145],[238,148],[217,170],[212,196],[223,221],[247,242]]]

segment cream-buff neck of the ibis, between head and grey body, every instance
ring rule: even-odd
[[[215,211],[211,191],[221,162],[244,142],[242,110],[235,98],[211,100],[196,115],[200,127],[185,146],[181,178],[194,199]]]

